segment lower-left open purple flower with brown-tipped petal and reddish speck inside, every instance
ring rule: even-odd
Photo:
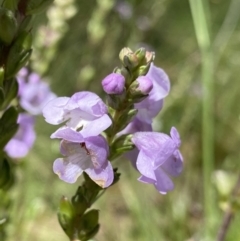
[[[65,157],[56,159],[53,164],[53,171],[60,179],[74,183],[85,171],[102,188],[112,184],[113,169],[107,160],[109,149],[102,136],[83,138],[81,133],[68,128],[59,136],[63,137],[60,151]]]

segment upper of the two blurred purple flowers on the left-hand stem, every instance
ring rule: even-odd
[[[27,69],[23,68],[18,74],[20,105],[32,115],[42,113],[43,107],[56,95],[50,91],[47,83],[39,75],[31,73],[27,76]],[[26,81],[28,80],[28,81]]]

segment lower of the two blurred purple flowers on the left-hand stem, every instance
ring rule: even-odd
[[[28,114],[19,114],[18,131],[5,146],[5,151],[12,158],[25,157],[35,141],[34,117]]]

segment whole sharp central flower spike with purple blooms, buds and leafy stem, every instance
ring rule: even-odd
[[[51,138],[60,139],[62,157],[54,161],[53,171],[68,183],[84,176],[72,199],[60,201],[59,222],[70,240],[89,240],[97,233],[99,213],[90,208],[119,180],[116,158],[129,159],[138,180],[153,184],[161,194],[174,188],[170,176],[183,168],[177,129],[167,135],[152,128],[170,90],[168,76],[144,48],[124,48],[119,56],[122,67],[102,80],[106,103],[95,93],[80,91],[43,108],[46,122],[58,126]]]

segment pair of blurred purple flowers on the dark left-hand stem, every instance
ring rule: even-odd
[[[36,73],[29,73],[26,68],[20,70],[17,81],[20,106],[28,113],[19,114],[18,131],[5,146],[7,154],[16,159],[25,157],[34,144],[34,116],[41,114],[46,103],[56,98],[48,84]]]

